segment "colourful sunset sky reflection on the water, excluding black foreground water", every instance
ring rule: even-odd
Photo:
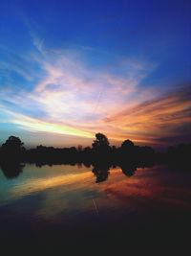
[[[95,183],[92,170],[76,166],[27,165],[15,179],[0,173],[2,221],[11,215],[45,221],[67,221],[122,213],[184,212],[191,210],[191,174],[166,167],[138,169],[127,177],[119,168],[108,180]],[[10,214],[8,214],[8,211]]]

